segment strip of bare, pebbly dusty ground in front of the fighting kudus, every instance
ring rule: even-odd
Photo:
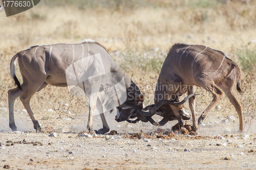
[[[225,139],[179,135],[147,142],[124,135],[109,136],[110,139],[105,135],[86,138],[70,133],[57,133],[56,137],[46,133],[1,133],[0,165],[11,169],[256,168],[255,135],[226,135]]]

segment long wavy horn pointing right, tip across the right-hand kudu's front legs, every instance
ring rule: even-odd
[[[156,111],[163,105],[163,104],[169,104],[169,105],[183,105],[189,98],[191,98],[191,97],[193,97],[193,96],[195,96],[195,95],[200,95],[200,94],[198,94],[198,93],[194,93],[194,94],[189,94],[188,96],[186,96],[186,98],[184,98],[183,99],[183,101],[181,101],[181,102],[173,102],[173,101],[169,101],[169,100],[163,100],[163,101],[161,101],[161,102],[159,102],[159,103],[157,103],[156,105],[155,105],[155,107],[153,107],[150,111],[148,111],[148,112],[145,112],[145,111],[140,111],[138,114],[139,114],[139,116],[145,116],[145,117],[147,117],[147,116],[153,116],[155,113],[156,113]],[[150,120],[149,120],[150,121]]]

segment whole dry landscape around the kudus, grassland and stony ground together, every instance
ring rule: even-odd
[[[0,168],[255,169],[256,2],[224,2],[45,0],[14,16],[0,12]],[[243,92],[236,91],[236,96],[243,107],[244,133],[238,132],[237,112],[224,95],[197,134],[171,132],[177,120],[161,129],[150,123],[117,123],[114,111],[105,116],[110,130],[117,134],[90,136],[86,132],[87,98],[70,95],[67,87],[50,85],[30,102],[43,132],[35,133],[19,99],[14,105],[17,131],[11,132],[7,93],[15,87],[11,58],[34,44],[83,39],[94,39],[106,47],[145,94],[144,106],[154,103],[159,72],[174,43],[223,51],[242,71]],[[16,73],[22,82],[18,64]],[[201,94],[196,97],[198,118],[212,96],[200,87],[196,92]],[[185,107],[189,108],[187,103]],[[96,115],[94,129],[100,128]]]

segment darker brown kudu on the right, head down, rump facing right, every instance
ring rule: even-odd
[[[155,104],[164,100],[178,101],[179,97],[186,92],[188,95],[193,94],[195,92],[194,86],[202,87],[211,93],[214,99],[199,117],[198,124],[200,125],[207,113],[209,113],[211,108],[217,104],[223,93],[225,93],[238,113],[239,129],[243,132],[242,108],[234,96],[233,91],[233,86],[237,83],[237,90],[241,92],[240,82],[240,68],[223,52],[204,45],[177,43],[169,50],[163,63],[155,90]],[[195,96],[188,101],[193,119],[192,129],[193,131],[197,131]],[[151,109],[153,106],[149,108]],[[184,113],[182,113],[182,109],[183,106],[181,105],[169,105],[169,108],[165,105],[165,107],[160,107],[154,111],[160,112],[158,114],[162,113],[165,115],[159,123],[160,126],[168,122],[169,116],[169,120],[178,119],[180,126],[183,127],[182,115]],[[145,113],[144,116],[152,116],[154,111],[151,111],[151,114]],[[166,111],[170,113],[167,114]],[[172,117],[172,115],[175,116]],[[151,122],[154,122],[152,118]]]

